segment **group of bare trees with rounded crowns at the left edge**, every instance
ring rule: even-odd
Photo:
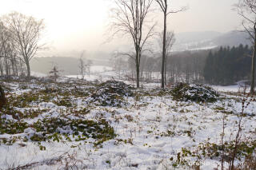
[[[0,73],[30,77],[30,60],[44,49],[39,44],[43,20],[17,12],[0,18]]]

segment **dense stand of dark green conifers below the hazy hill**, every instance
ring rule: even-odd
[[[252,48],[248,45],[221,47],[209,53],[203,70],[206,83],[230,85],[241,80],[248,80],[251,70]]]

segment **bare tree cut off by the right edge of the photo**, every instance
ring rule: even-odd
[[[254,93],[255,86],[255,56],[256,56],[256,1],[255,0],[239,0],[238,4],[235,4],[235,9],[243,18],[242,26],[249,34],[251,42],[253,44],[253,55],[251,59],[251,77],[250,77],[250,93]]]

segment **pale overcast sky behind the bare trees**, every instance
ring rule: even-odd
[[[238,0],[172,0],[174,8],[189,10],[168,19],[168,30],[175,33],[213,30],[236,30],[241,20],[232,6]],[[104,50],[102,45],[110,0],[0,0],[0,14],[18,11],[44,18],[47,42],[55,50]],[[158,26],[162,22],[158,21]]]

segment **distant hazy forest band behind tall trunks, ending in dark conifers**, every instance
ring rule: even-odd
[[[252,49],[248,45],[170,53],[166,61],[166,84],[182,81],[231,85],[249,80],[251,54]],[[141,81],[159,82],[162,59],[160,53],[155,56],[157,57],[142,57]],[[134,79],[132,60],[128,59],[127,62],[126,58],[119,57],[112,63],[119,77]]]

